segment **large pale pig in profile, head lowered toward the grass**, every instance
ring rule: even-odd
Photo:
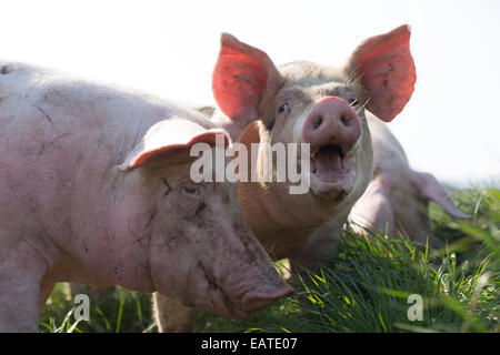
[[[244,317],[288,286],[234,204],[193,183],[227,133],[146,93],[0,62],[0,332],[37,332],[56,282],[160,292]]]

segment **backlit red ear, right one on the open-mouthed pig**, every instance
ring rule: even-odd
[[[360,78],[369,102],[367,109],[390,122],[413,93],[416,69],[410,53],[410,27],[369,38],[352,53],[348,72]]]

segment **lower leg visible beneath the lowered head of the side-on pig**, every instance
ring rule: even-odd
[[[186,333],[194,331],[197,310],[186,307],[180,302],[153,293],[154,322],[160,333]]]

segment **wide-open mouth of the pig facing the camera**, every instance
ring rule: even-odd
[[[343,155],[336,144],[323,145],[310,159],[311,192],[321,200],[341,201],[354,187],[356,158]]]

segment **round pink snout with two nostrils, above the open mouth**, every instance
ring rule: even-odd
[[[316,103],[306,118],[302,136],[311,144],[311,152],[332,144],[343,155],[348,153],[361,134],[358,114],[343,99],[329,97]]]

